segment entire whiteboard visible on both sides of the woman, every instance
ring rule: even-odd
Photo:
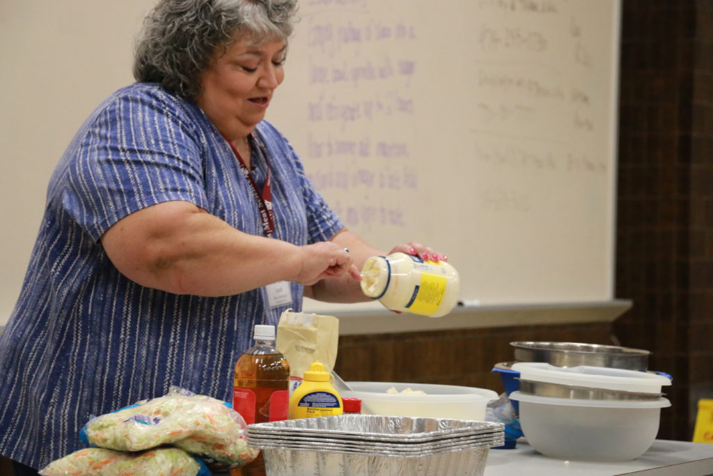
[[[0,2],[0,324],[46,185],[153,0]],[[437,8],[434,8],[434,5]],[[619,0],[302,0],[268,119],[349,228],[463,299],[612,298]]]

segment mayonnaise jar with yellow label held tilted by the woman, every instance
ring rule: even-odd
[[[440,318],[458,303],[461,282],[445,261],[406,253],[372,256],[361,268],[361,290],[391,310]]]

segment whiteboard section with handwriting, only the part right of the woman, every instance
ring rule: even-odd
[[[466,301],[612,299],[619,1],[301,11],[268,118],[349,228],[445,253]]]

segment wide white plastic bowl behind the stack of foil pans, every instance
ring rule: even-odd
[[[488,402],[496,400],[493,390],[458,385],[396,382],[348,382],[354,391],[339,393],[342,397],[361,398],[361,412],[366,415],[401,417],[453,418],[456,420],[485,420]],[[426,395],[386,393],[395,387],[421,390]]]

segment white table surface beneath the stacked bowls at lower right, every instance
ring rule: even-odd
[[[485,476],[708,476],[713,475],[713,445],[655,440],[649,450],[632,461],[565,461],[540,455],[526,440],[512,450],[488,452]]]

